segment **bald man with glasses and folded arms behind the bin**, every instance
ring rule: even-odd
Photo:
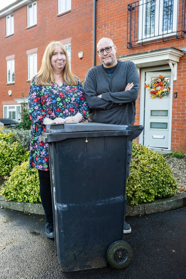
[[[135,101],[140,84],[137,68],[131,61],[117,60],[116,46],[110,38],[102,38],[97,50],[102,64],[88,70],[84,83],[85,97],[90,107],[89,121],[134,125]],[[128,146],[127,177],[131,157],[132,141]],[[130,232],[130,225],[124,221],[124,233]]]

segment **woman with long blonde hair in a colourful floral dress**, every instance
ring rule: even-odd
[[[77,123],[89,114],[83,86],[70,71],[67,51],[60,42],[47,46],[41,68],[31,81],[28,114],[32,120],[29,168],[38,169],[45,234],[54,238],[48,143],[40,135],[47,124]]]

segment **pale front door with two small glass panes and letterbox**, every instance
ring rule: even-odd
[[[147,72],[146,84],[150,84],[152,79],[162,75],[169,78],[171,84],[171,72]],[[144,145],[150,148],[168,149],[169,133],[171,132],[170,117],[170,93],[168,97],[154,99],[150,90],[145,89],[145,111],[144,111]]]

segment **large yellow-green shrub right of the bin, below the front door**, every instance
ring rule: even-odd
[[[163,155],[133,141],[130,175],[126,183],[128,205],[170,197],[177,190],[176,179]]]

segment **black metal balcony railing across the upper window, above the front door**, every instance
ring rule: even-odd
[[[184,38],[186,0],[139,0],[128,5],[127,48]]]

